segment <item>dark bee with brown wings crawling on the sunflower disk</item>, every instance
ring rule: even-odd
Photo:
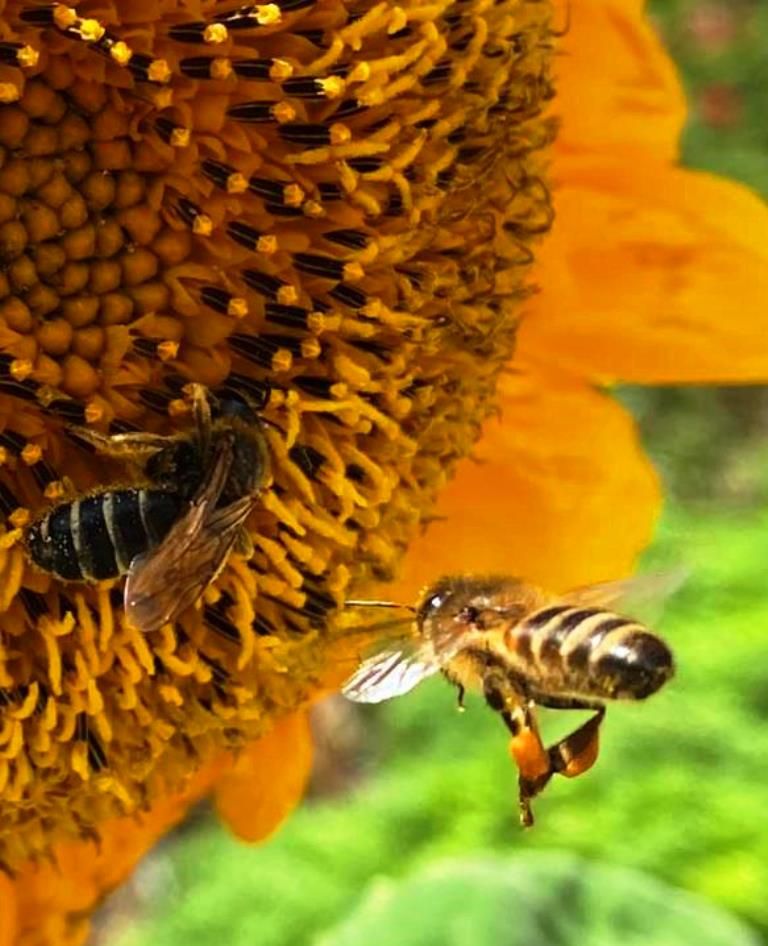
[[[190,385],[194,428],[171,436],[73,428],[99,452],[142,470],[138,486],[102,488],[46,510],[27,529],[31,560],[68,582],[126,576],[131,621],[153,631],[193,605],[230,551],[269,476],[258,416],[245,400]]]

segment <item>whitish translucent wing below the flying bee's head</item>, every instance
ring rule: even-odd
[[[434,676],[441,667],[431,649],[419,641],[403,641],[364,660],[341,688],[355,703],[381,703],[402,696]]]

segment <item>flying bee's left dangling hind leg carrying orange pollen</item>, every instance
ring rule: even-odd
[[[483,679],[483,693],[486,703],[499,713],[512,734],[509,751],[520,773],[520,823],[529,828],[533,824],[531,799],[544,789],[554,771],[533,715],[533,701],[508,675],[495,672],[493,668]]]

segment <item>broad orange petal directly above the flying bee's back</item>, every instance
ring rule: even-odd
[[[442,493],[411,546],[396,594],[441,574],[501,572],[559,590],[631,570],[648,542],[659,484],[631,418],[556,373],[508,375],[502,416]]]

